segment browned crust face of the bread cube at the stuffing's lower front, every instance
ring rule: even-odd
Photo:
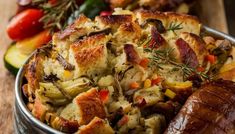
[[[81,93],[74,101],[80,110],[79,115],[81,120],[79,125],[88,124],[94,117],[101,119],[106,117],[104,105],[100,100],[97,89],[93,88],[85,93]]]

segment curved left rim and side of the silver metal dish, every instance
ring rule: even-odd
[[[27,61],[28,62],[28,61]],[[24,66],[19,70],[18,75],[16,77],[15,83],[15,111],[14,111],[14,118],[15,118],[15,128],[17,133],[19,134],[37,134],[37,133],[45,133],[45,134],[61,134],[60,131],[57,131],[45,123],[39,121],[30,113],[27,109],[23,93],[21,90],[23,77],[25,71]]]

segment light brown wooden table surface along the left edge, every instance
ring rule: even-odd
[[[0,133],[13,133],[14,76],[3,65],[3,55],[10,44],[6,24],[16,10],[15,0],[0,0]]]

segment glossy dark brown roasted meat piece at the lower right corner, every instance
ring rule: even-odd
[[[235,83],[217,80],[190,96],[165,134],[226,134],[235,132]]]

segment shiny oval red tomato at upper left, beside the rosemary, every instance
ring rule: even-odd
[[[43,11],[27,9],[12,18],[7,26],[8,36],[15,41],[31,37],[43,30],[43,23],[39,22]]]

